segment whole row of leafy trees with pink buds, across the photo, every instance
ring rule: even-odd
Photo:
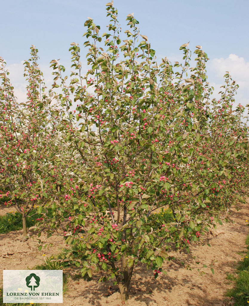
[[[47,90],[32,46],[27,101],[18,103],[0,58],[0,197],[22,214],[24,239],[34,205],[43,214],[37,228],[49,222],[48,235],[67,221],[71,249],[62,257],[83,276],[101,270],[102,280],[115,278],[126,300],[138,262],[156,278],[171,250],[188,250],[222,210],[244,199],[248,116],[241,105],[232,110],[238,85],[229,73],[221,99],[211,99],[200,46],[195,67],[188,44],[180,47],[183,63],[158,64],[133,15],[121,40],[117,9],[106,6],[107,33],[85,22],[84,76],[72,43],[70,81],[53,60]],[[152,218],[164,207],[170,220]]]

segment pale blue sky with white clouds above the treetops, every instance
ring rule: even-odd
[[[86,50],[82,37],[87,17],[106,32],[107,0],[9,0],[1,3],[0,56],[7,62],[10,78],[19,99],[25,99],[22,62],[29,58],[31,44],[39,50],[45,81],[51,82],[49,62],[60,58],[69,68],[71,42],[81,46],[82,62]],[[189,43],[192,51],[201,45],[208,54],[208,81],[216,88],[223,84],[225,71],[240,85],[237,103],[249,103],[249,1],[248,0],[114,0],[122,30],[126,16],[134,13],[140,34],[147,35],[158,60],[167,56],[172,62],[181,59],[179,47]],[[124,37],[125,39],[125,37]],[[192,56],[194,58],[194,55]],[[85,67],[87,69],[87,67]]]

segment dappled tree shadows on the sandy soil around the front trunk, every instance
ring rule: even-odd
[[[242,215],[241,215],[242,214]],[[238,232],[238,233],[248,233],[248,227],[245,226],[243,219],[246,219],[246,214],[243,214],[241,211],[233,211],[232,213],[232,219],[236,219],[236,224],[232,225],[232,231]],[[240,220],[240,221],[239,221]],[[225,222],[224,222],[225,223]],[[213,232],[215,232],[213,230]],[[212,246],[215,247],[219,242],[218,239],[222,238],[222,243],[231,245],[230,236],[227,232],[222,232],[222,226],[219,228],[219,230],[214,233],[213,235],[208,234],[205,239],[205,244],[210,243]],[[192,247],[193,251],[198,247],[200,247],[201,244],[194,245]],[[218,248],[218,246],[217,246]],[[232,245],[233,249],[240,249],[241,245],[236,244],[236,241],[233,241]],[[207,254],[204,252],[204,254]],[[204,255],[205,256],[205,255]],[[215,274],[218,273],[218,271],[226,271],[229,268],[235,266],[236,264],[236,258],[234,257],[234,265],[231,264],[231,260],[233,259],[231,256],[231,249],[227,248],[224,250],[223,255],[225,258],[230,257],[230,261],[223,260],[221,264],[216,263],[214,266]],[[181,259],[182,261],[182,259]],[[184,253],[184,260],[185,263],[190,263],[191,266],[195,264],[195,259],[193,259],[193,256],[191,254]],[[235,267],[234,267],[235,268]],[[177,271],[179,269],[184,269],[183,266],[179,262],[170,262],[164,264],[164,269],[167,271],[167,269],[170,269],[171,271],[175,271],[175,275],[177,275]],[[195,269],[198,269],[198,266],[195,265]],[[210,270],[209,270],[210,271]],[[221,282],[216,279],[215,274],[205,274],[203,275],[203,280],[205,279],[206,282],[212,282],[212,287],[220,289]],[[196,280],[193,277],[193,275],[184,275],[183,278],[177,279],[176,277],[170,277],[169,275],[160,275],[158,278],[159,282],[154,280],[153,272],[151,270],[147,270],[146,267],[144,267],[142,264],[138,264],[137,267],[134,269],[134,276],[132,277],[132,283],[130,288],[130,297],[134,298],[135,300],[139,302],[144,302],[145,304],[149,305],[151,303],[157,304],[157,301],[153,298],[153,296],[160,295],[163,300],[165,300],[165,305],[167,304],[168,297],[170,296],[170,293],[172,292],[173,288],[175,286],[179,287],[179,292],[184,291],[184,300],[180,300],[178,303],[184,304],[184,305],[200,305],[200,306],[224,306],[224,305],[230,305],[231,302],[226,302],[226,297],[224,296],[218,296],[219,290],[217,290],[217,296],[216,296],[216,290],[212,291],[211,293],[208,291],[207,288],[202,283],[196,284]],[[77,280],[76,280],[77,281]],[[81,279],[79,277],[78,284],[81,282]],[[74,297],[84,297],[84,300],[88,302],[89,305],[95,305],[100,306],[100,300],[103,299],[103,296],[108,298],[109,296],[113,295],[113,298],[117,299],[117,305],[122,305],[120,300],[120,294],[118,292],[118,287],[113,286],[113,283],[111,281],[108,281],[106,283],[100,283],[98,284],[98,277],[93,277],[91,280],[89,280],[87,286],[80,286],[80,289],[77,289],[77,286],[73,288]],[[225,283],[224,283],[225,286]],[[202,291],[202,294],[199,294],[199,292]],[[151,295],[151,296],[150,296]],[[215,296],[215,298],[214,298]],[[193,303],[193,301],[195,301]],[[107,302],[108,303],[108,302]],[[226,304],[228,303],[228,304]],[[170,305],[172,306],[172,305]]]

